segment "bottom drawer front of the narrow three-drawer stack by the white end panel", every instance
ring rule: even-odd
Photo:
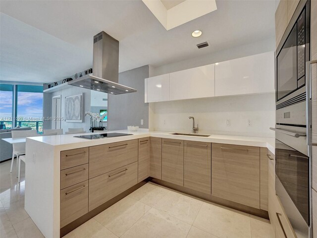
[[[60,190],[60,227],[88,212],[88,180]]]

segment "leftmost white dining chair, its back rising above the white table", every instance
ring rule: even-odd
[[[31,137],[31,136],[36,136],[36,135],[37,135],[37,130],[12,130],[11,131],[12,138]],[[12,160],[11,160],[10,173],[12,173],[13,161],[14,161],[14,157],[16,156],[16,173],[18,175],[19,156],[25,154],[25,142],[24,143],[13,143],[12,148],[13,148],[13,150],[12,150]]]

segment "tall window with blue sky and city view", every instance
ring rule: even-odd
[[[42,133],[43,86],[0,84],[0,94],[1,128],[32,127]]]

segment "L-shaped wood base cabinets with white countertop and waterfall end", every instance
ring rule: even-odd
[[[65,235],[149,177],[267,217],[267,159],[274,153],[273,138],[111,132],[133,135],[96,140],[74,135],[27,138],[25,210],[45,237]],[[223,167],[227,163],[229,171]],[[221,176],[235,179],[234,172],[242,167],[237,191]]]

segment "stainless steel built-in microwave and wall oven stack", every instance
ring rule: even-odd
[[[275,190],[298,238],[311,236],[310,0],[301,0],[276,50]]]

